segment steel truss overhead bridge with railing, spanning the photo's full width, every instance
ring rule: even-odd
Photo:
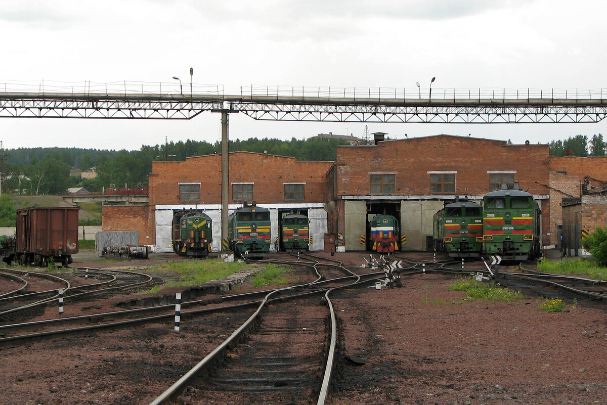
[[[405,93],[403,94],[405,96]],[[0,92],[0,117],[191,119],[242,112],[268,121],[432,122],[441,124],[599,122],[602,98],[360,98],[296,95],[183,95]],[[545,97],[545,96],[544,96]]]

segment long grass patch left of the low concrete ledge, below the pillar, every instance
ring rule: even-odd
[[[150,267],[149,271],[168,281],[143,293],[154,293],[167,287],[198,286],[237,273],[250,267],[246,263],[226,263],[222,260],[180,260]]]

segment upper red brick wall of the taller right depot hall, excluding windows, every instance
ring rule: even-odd
[[[456,194],[489,192],[487,170],[516,170],[521,189],[548,194],[547,145],[507,145],[505,141],[437,135],[337,147],[337,195],[370,191],[368,172],[396,172],[396,194],[430,194],[428,171],[457,170]]]

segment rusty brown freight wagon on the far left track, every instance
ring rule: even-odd
[[[16,259],[21,265],[64,267],[78,253],[77,207],[29,207],[17,210]]]

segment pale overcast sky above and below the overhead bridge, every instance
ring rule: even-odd
[[[0,0],[3,82],[163,82],[440,89],[600,89],[607,2],[328,0]],[[1,87],[0,87],[1,88]],[[0,90],[2,91],[2,90]],[[231,139],[361,137],[365,124],[255,121],[231,114]],[[468,135],[548,143],[599,124],[382,124],[391,138]],[[220,139],[220,116],[189,121],[0,118],[18,147],[138,150]]]

